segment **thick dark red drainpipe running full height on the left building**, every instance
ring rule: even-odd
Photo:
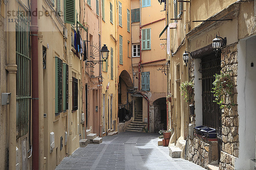
[[[31,1],[31,65],[32,65],[32,170],[39,169],[39,101],[38,101],[38,18],[37,1]],[[35,14],[34,14],[35,13]]]

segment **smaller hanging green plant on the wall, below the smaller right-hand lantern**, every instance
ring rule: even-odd
[[[194,89],[194,84],[192,79],[189,82],[185,81],[181,83],[180,85],[181,95],[184,96],[184,100],[186,100],[186,102],[192,101],[193,89]]]

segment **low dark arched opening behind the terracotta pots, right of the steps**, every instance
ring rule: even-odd
[[[154,133],[167,129],[166,98],[162,97],[153,102],[154,106]]]

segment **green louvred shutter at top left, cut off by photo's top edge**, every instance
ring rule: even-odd
[[[64,22],[75,25],[75,0],[64,0]]]

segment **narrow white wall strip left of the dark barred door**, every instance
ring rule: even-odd
[[[194,71],[195,126],[200,126],[200,125],[203,125],[203,111],[202,111],[203,101],[202,101],[202,79],[201,79],[202,74],[199,73],[201,59],[195,59],[194,63],[195,63],[195,71]]]

